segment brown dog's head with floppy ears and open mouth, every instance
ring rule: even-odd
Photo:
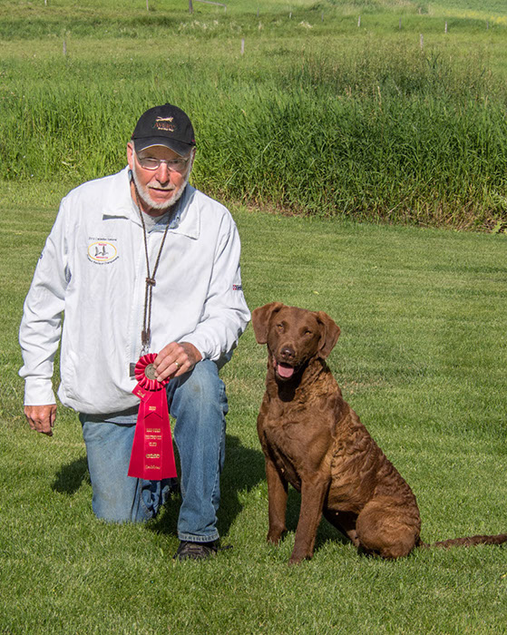
[[[268,344],[275,374],[288,381],[313,357],[325,359],[333,350],[340,329],[324,311],[287,307],[271,302],[252,313],[258,344]]]

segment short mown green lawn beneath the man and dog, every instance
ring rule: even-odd
[[[76,415],[54,437],[22,415],[16,330],[62,185],[3,188],[0,630],[6,633],[502,633],[504,547],[359,557],[321,523],[287,565],[269,547],[255,422],[265,352],[251,328],[224,368],[230,402],[219,529],[232,552],[174,564],[178,500],[145,526],[96,521]],[[8,201],[12,201],[9,203]],[[38,200],[44,201],[43,203]],[[249,306],[282,300],[342,328],[346,399],[412,485],[426,542],[506,530],[507,277],[503,235],[284,218],[234,208]]]

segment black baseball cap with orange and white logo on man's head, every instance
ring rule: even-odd
[[[195,146],[195,137],[187,114],[178,106],[165,103],[141,114],[132,132],[132,142],[136,152],[152,145],[165,145],[186,156]]]

